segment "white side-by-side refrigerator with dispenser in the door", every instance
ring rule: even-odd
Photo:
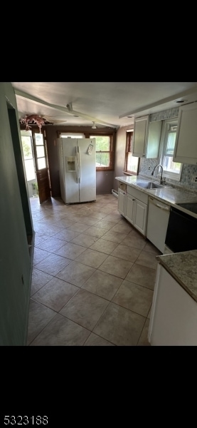
[[[58,138],[57,145],[64,203],[96,200],[95,138]]]

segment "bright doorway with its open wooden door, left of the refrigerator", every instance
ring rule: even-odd
[[[43,203],[51,196],[45,131],[21,131],[21,141],[29,197]]]

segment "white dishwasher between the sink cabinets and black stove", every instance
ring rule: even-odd
[[[170,206],[149,196],[147,238],[164,254]]]

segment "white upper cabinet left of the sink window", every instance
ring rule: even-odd
[[[149,122],[149,116],[134,119],[133,156],[158,158],[161,124],[161,121]]]

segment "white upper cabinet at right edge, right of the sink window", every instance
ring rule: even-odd
[[[197,102],[179,108],[173,161],[197,165]]]

